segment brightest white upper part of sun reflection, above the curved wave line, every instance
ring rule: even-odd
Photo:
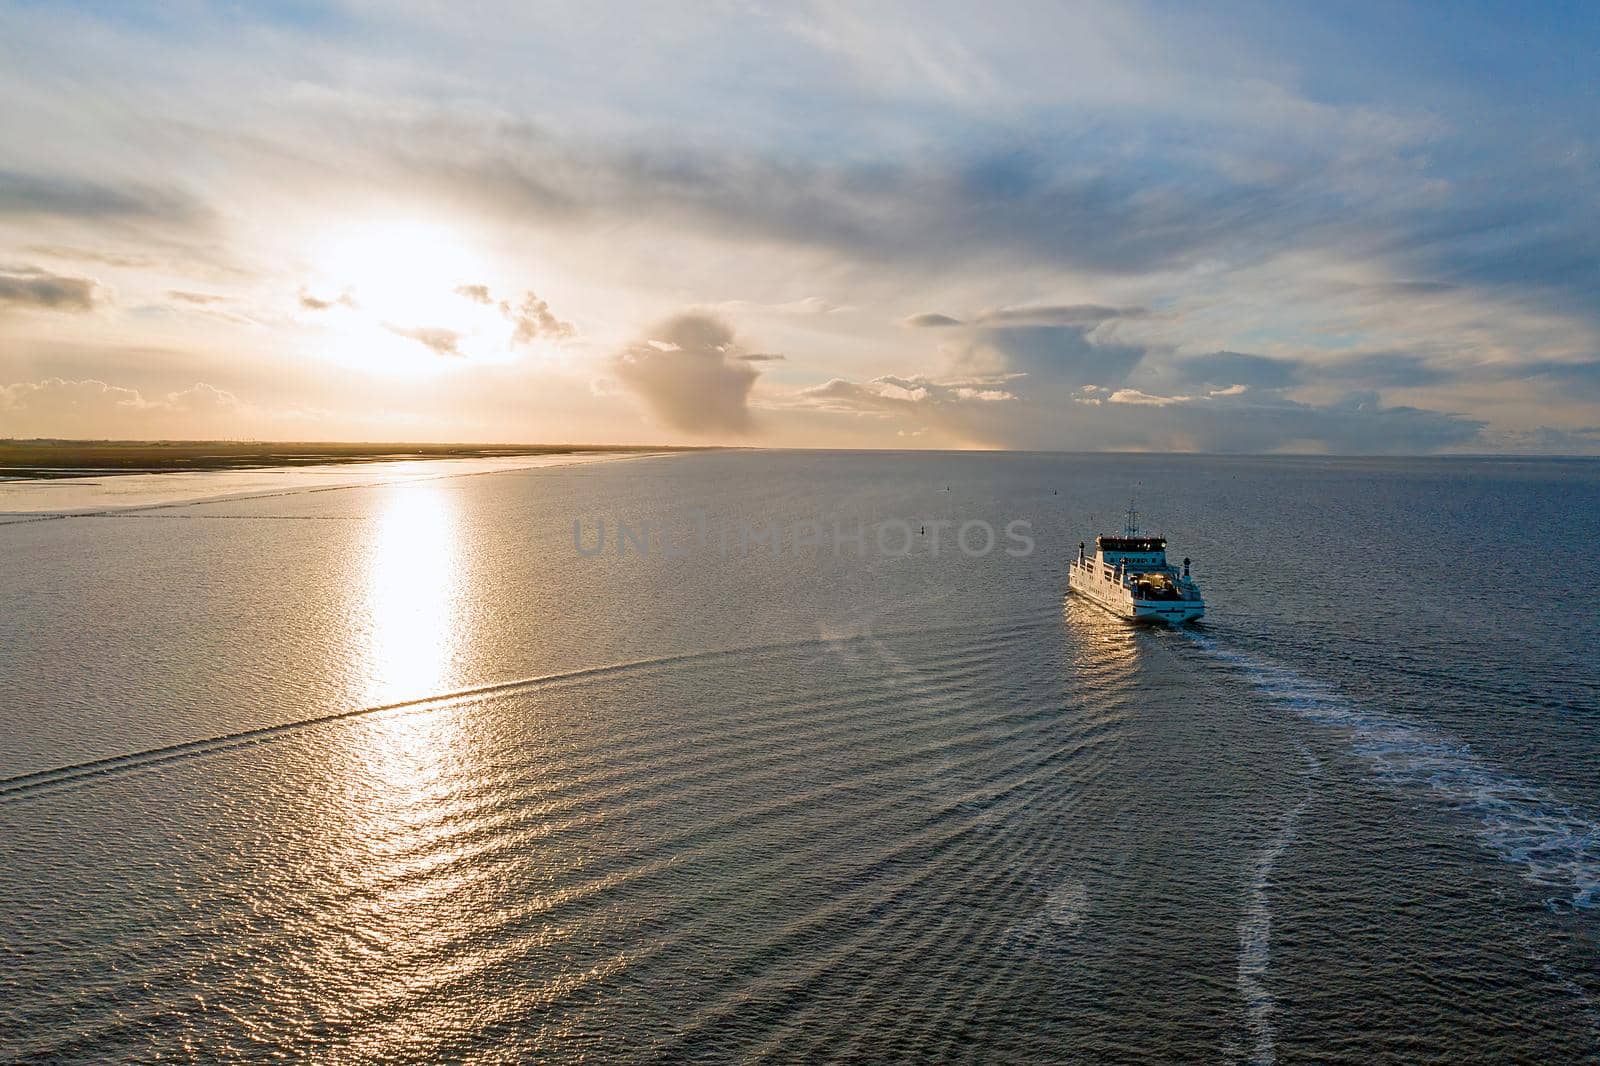
[[[454,498],[437,482],[386,490],[366,560],[366,699],[451,688],[461,648],[461,547]]]

